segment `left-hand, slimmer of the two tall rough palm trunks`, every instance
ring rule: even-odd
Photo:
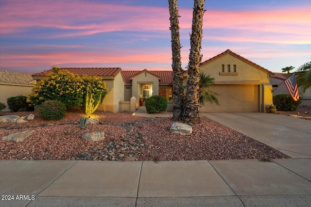
[[[179,21],[177,0],[169,0],[171,36],[172,36],[172,55],[173,55],[173,121],[178,121],[183,115],[184,90],[183,90],[183,69],[181,67],[180,41],[179,41]]]

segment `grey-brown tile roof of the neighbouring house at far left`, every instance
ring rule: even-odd
[[[33,85],[32,74],[0,70],[0,82]]]

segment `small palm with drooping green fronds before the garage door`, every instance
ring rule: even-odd
[[[214,80],[215,78],[211,78],[210,75],[200,74],[199,104],[201,106],[204,106],[207,102],[220,105],[218,101],[219,94],[209,90],[211,86],[215,85]]]

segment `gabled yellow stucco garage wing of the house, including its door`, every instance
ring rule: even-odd
[[[212,91],[221,103],[206,104],[201,111],[265,112],[272,104],[274,73],[229,49],[201,63],[201,71],[215,78]]]

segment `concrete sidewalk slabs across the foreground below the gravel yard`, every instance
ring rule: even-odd
[[[311,159],[1,160],[1,198],[15,200],[0,206],[309,207],[310,172]]]

